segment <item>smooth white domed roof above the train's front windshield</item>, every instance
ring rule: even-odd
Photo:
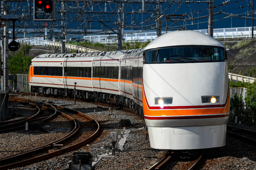
[[[183,46],[183,45],[206,45],[206,46],[220,46],[225,47],[219,41],[211,36],[208,36],[198,31],[173,31],[163,34],[157,39],[150,42],[145,48],[155,49],[170,46]]]

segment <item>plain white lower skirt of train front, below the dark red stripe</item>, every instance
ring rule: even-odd
[[[152,148],[190,150],[226,145],[227,124],[147,128]]]

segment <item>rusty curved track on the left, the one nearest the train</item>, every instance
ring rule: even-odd
[[[27,99],[12,98],[12,100],[24,101]],[[42,102],[36,102],[36,101],[32,101],[32,100],[29,100],[29,102],[42,104]],[[42,160],[45,160],[48,158],[52,158],[57,155],[61,155],[68,151],[72,151],[72,150],[79,148],[79,147],[85,145],[86,143],[90,142],[92,139],[96,138],[97,134],[99,133],[99,129],[100,129],[99,123],[92,117],[87,116],[86,114],[83,114],[81,112],[78,112],[78,111],[75,111],[72,109],[68,109],[65,107],[61,107],[58,105],[54,105],[54,104],[45,104],[45,105],[50,105],[52,108],[55,109],[56,114],[59,114],[59,115],[61,114],[62,116],[69,119],[73,123],[73,127],[74,127],[73,130],[71,130],[70,133],[68,133],[66,136],[62,137],[61,139],[53,141],[52,143],[48,143],[47,145],[43,145],[43,146],[40,146],[40,147],[32,149],[32,150],[17,153],[12,156],[7,156],[5,158],[1,158],[0,159],[0,169],[1,170],[7,170],[10,168],[21,167],[21,166],[39,162],[39,161],[42,161]],[[64,113],[63,110],[66,110],[66,113]],[[67,112],[69,114],[70,113],[78,114],[78,115],[84,117],[85,119],[87,119],[88,122],[91,122],[90,124],[88,124],[88,126],[92,126],[92,124],[95,125],[95,127],[96,127],[95,131],[92,134],[90,134],[89,136],[87,136],[87,138],[83,138],[79,142],[75,142],[72,145],[70,145],[71,142],[69,141],[69,139],[73,138],[75,136],[75,134],[78,133],[78,131],[81,127],[80,127],[80,122],[77,119],[74,119],[73,116],[69,116],[67,114]],[[44,119],[44,121],[46,121],[46,120],[47,119]],[[58,145],[58,144],[61,144],[61,145]],[[57,150],[54,149],[54,148],[56,148],[56,146],[58,146]],[[51,152],[47,153],[47,151],[51,151]],[[33,156],[31,156],[31,155],[33,155]]]

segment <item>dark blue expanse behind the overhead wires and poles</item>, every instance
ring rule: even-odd
[[[168,26],[168,31],[177,30],[180,28],[176,24],[173,24],[173,22],[171,21],[167,22],[167,24],[166,22],[164,22],[164,20],[166,19],[166,17],[164,16],[171,15],[171,14],[175,14],[175,15],[187,14],[187,17],[185,17],[185,19],[189,19],[189,18],[194,19],[193,22],[192,20],[187,20],[186,22],[177,22],[177,24],[180,26],[183,26],[184,24],[184,27],[187,30],[208,29],[208,19],[207,19],[208,3],[202,3],[202,2],[206,2],[206,0],[202,0],[201,3],[196,3],[197,0],[189,0],[189,1],[190,2],[194,1],[194,3],[186,3],[186,1],[184,0],[182,2],[173,3],[172,5],[170,5],[170,3],[163,1],[165,3],[163,4],[162,13],[161,13],[161,15],[163,15],[163,17],[161,17],[162,31],[164,31],[166,26]],[[236,0],[236,1],[235,0],[214,0],[213,13],[216,15],[213,16],[213,28],[218,29],[218,28],[251,27],[252,26],[251,14],[253,10],[251,6],[252,1],[253,0]],[[103,8],[104,8],[104,3],[101,3],[101,4],[103,5]],[[135,4],[135,5],[138,6],[138,4]],[[168,7],[168,5],[170,6]],[[97,10],[97,5],[94,5],[93,7],[95,8],[95,10]],[[256,7],[254,8],[256,9]],[[131,9],[127,9],[127,11],[129,13]],[[220,12],[226,13],[227,15],[220,14]],[[85,18],[85,20],[82,20],[82,21],[80,20],[76,22],[76,20],[72,20],[72,22],[66,22],[64,24],[65,28],[67,30],[68,29],[84,30],[85,28],[87,28],[88,31],[92,30],[92,32],[93,30],[96,30],[99,32],[100,31],[110,32],[109,27],[111,27],[111,29],[114,29],[115,31],[117,31],[118,25],[115,24],[115,22],[118,20],[117,14],[113,14],[114,17],[113,16],[109,17],[111,15],[109,14],[109,16],[103,17],[102,20],[100,18],[100,20],[103,21],[104,24],[106,24],[107,26],[104,26],[102,22],[99,22],[99,18],[97,17],[97,15],[99,16],[101,14],[90,15],[90,17],[93,17],[93,21],[89,22],[88,25],[86,25],[86,22],[84,22],[86,20]],[[156,14],[154,14],[153,17],[150,17],[150,15],[152,14],[137,13],[133,15],[131,14],[131,12],[125,15],[126,16],[124,20],[124,29],[126,31],[127,30],[130,30],[132,32],[141,31],[141,30],[156,31],[156,26],[155,26],[156,20],[157,20]],[[77,15],[74,15],[74,17],[75,16]],[[199,17],[204,17],[204,18],[197,19]],[[243,18],[240,19],[237,17],[243,17]],[[256,18],[256,14],[254,14],[254,17]],[[111,20],[111,21],[107,21],[107,20]],[[133,21],[135,21],[135,25],[132,25]],[[49,27],[50,25],[51,25],[51,22],[48,23],[48,29],[51,29],[51,27]],[[146,25],[151,25],[151,26],[145,27]],[[256,26],[256,22],[254,22],[254,25]],[[131,27],[131,26],[136,26],[137,28]],[[141,26],[144,26],[144,28],[141,29],[140,28]],[[35,27],[35,26],[31,26],[31,27]],[[38,28],[40,29],[40,31],[42,31],[44,26],[38,26]],[[54,29],[60,29],[60,25],[57,25],[57,24],[54,25]],[[56,33],[56,34],[59,34],[59,33]],[[95,32],[95,34],[98,34],[98,32]]]

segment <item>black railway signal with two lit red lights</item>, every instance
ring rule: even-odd
[[[34,0],[34,20],[51,21],[55,19],[53,0]]]

